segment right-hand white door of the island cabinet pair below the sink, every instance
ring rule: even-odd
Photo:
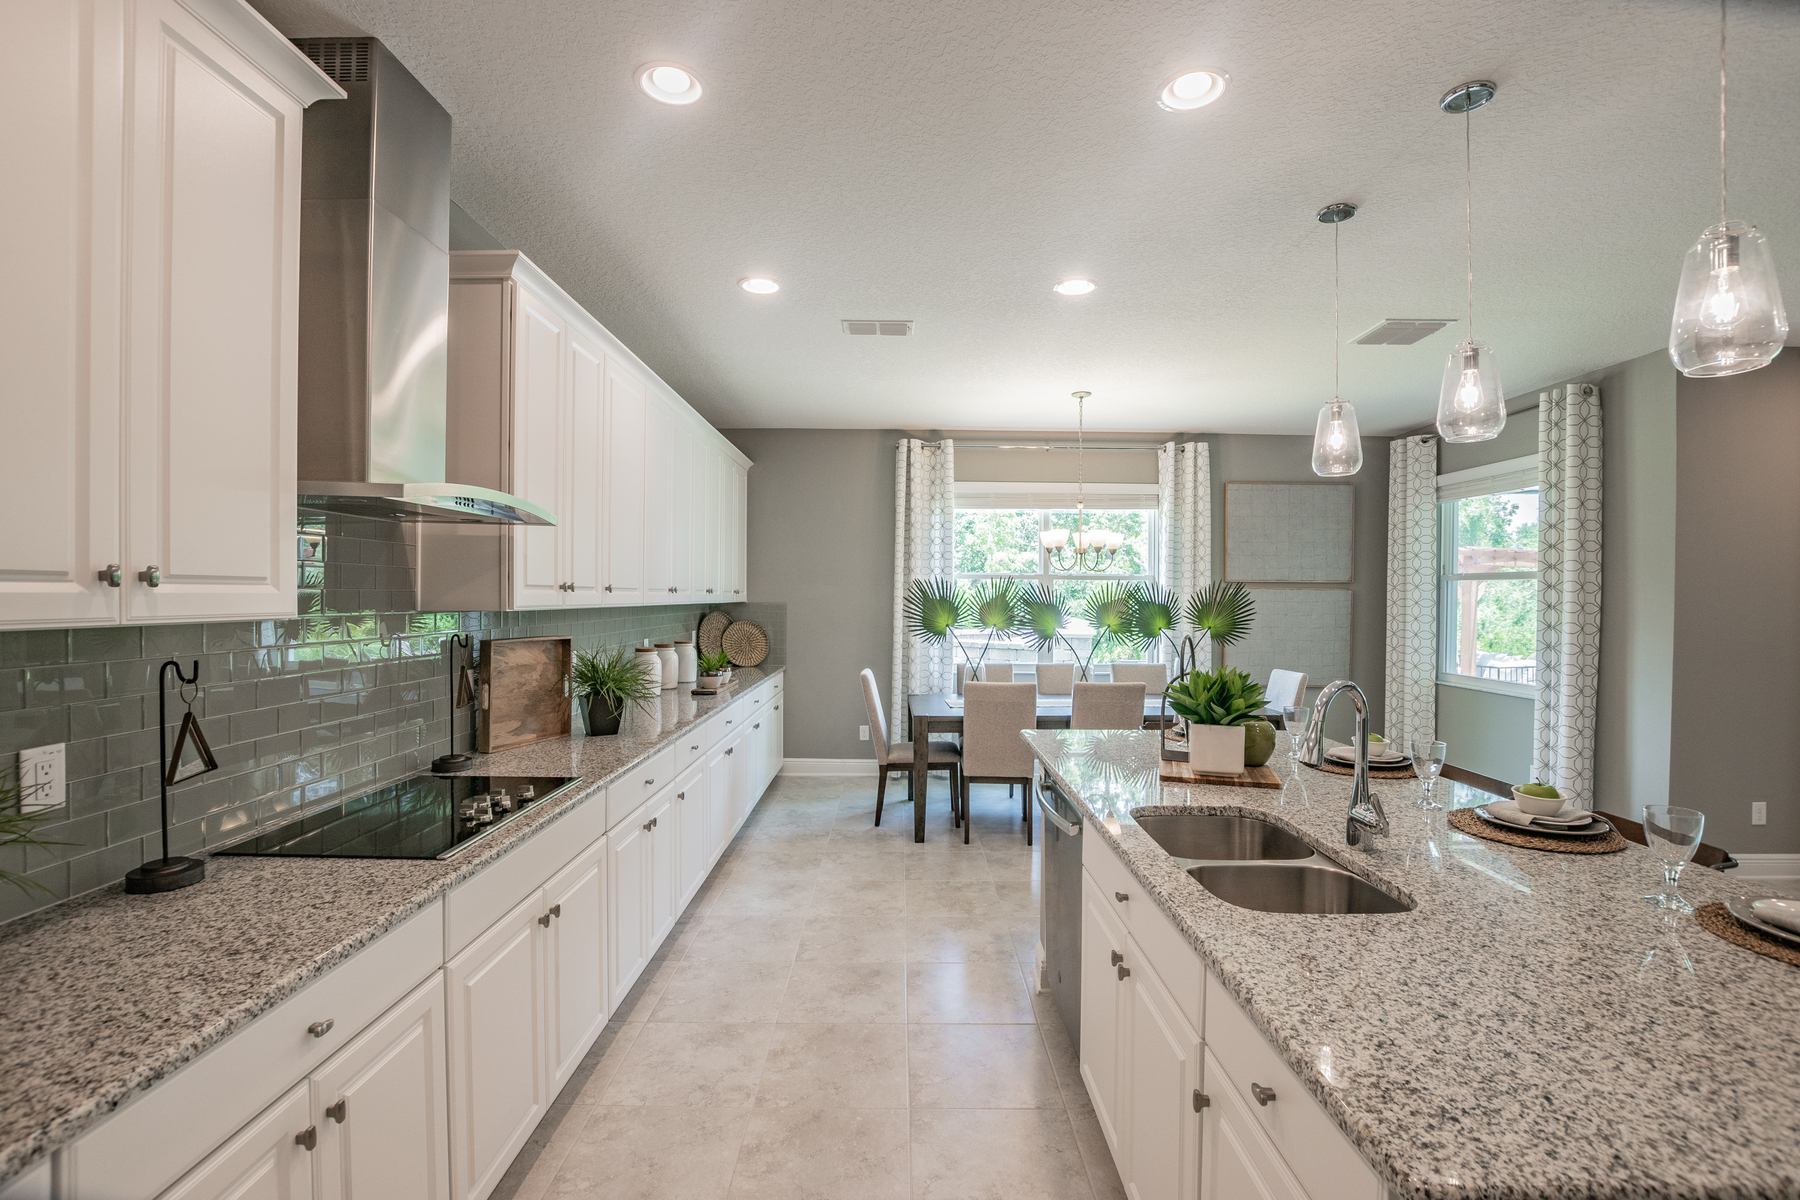
[[[1193,1090],[1201,1087],[1201,1034],[1150,970],[1136,941],[1127,941],[1132,970],[1130,1018],[1130,1133],[1125,1193],[1132,1200],[1190,1200],[1199,1187],[1201,1117]],[[1085,966],[1085,963],[1084,963]],[[1116,972],[1114,972],[1116,973]],[[1085,997],[1084,997],[1085,999]],[[1085,1040],[1085,1029],[1084,1040]]]

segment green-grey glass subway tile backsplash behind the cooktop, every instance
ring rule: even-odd
[[[452,730],[445,637],[572,637],[578,648],[691,635],[707,606],[560,612],[414,612],[401,525],[301,525],[301,615],[286,621],[0,633],[0,768],[27,747],[68,745],[65,820],[45,851],[0,849],[47,892],[0,887],[0,919],[124,878],[160,847],[157,680],[166,658],[200,662],[194,714],[220,770],[169,790],[169,849],[193,853],[295,810],[414,774],[473,747]],[[769,626],[785,610],[733,612]],[[182,712],[171,691],[169,721]]]

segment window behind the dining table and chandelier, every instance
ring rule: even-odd
[[[1156,509],[1105,507],[1087,511],[1089,529],[1107,529],[1123,534],[1125,543],[1103,574],[1058,572],[1051,554],[1044,551],[1046,529],[1075,529],[1075,513],[1055,507],[961,507],[956,509],[956,581],[976,585],[983,579],[1015,579],[1024,585],[1044,583],[1069,613],[1064,633],[1089,657],[1094,630],[1082,621],[1080,610],[1087,594],[1107,581],[1150,583],[1156,579]],[[974,655],[986,646],[965,639]],[[1154,653],[1154,651],[1152,651]],[[1130,648],[1107,646],[1093,657],[1094,664],[1136,657]],[[1039,651],[1019,637],[995,637],[986,649],[986,662],[1073,662],[1062,642],[1055,649]]]

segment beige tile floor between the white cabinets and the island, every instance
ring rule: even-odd
[[[976,786],[963,846],[947,795],[914,844],[873,779],[776,779],[495,1198],[1123,1196],[1019,799]]]

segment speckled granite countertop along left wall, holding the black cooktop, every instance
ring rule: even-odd
[[[443,862],[211,858],[178,892],[115,883],[0,927],[0,1184],[779,671],[740,669],[720,696],[664,691],[617,736],[477,754],[466,774],[581,783]]]

